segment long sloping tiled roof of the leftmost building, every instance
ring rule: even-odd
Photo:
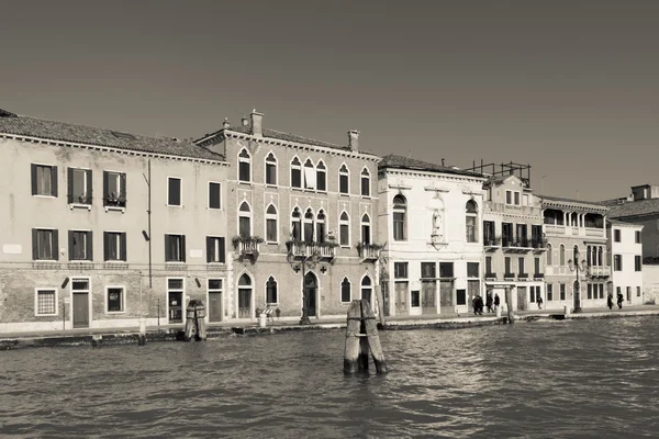
[[[47,121],[15,115],[4,110],[0,110],[0,135],[2,134],[224,161],[222,155],[213,153],[204,147],[197,146],[191,142],[183,142],[175,138],[146,137],[110,128],[97,128],[67,122]]]

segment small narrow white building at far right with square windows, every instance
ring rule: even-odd
[[[613,296],[622,293],[627,305],[643,305],[643,239],[644,226],[607,221],[607,237],[613,268]]]

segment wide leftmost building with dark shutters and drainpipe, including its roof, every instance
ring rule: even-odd
[[[225,318],[228,166],[193,144],[0,112],[0,330]]]

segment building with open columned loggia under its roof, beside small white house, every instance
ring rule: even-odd
[[[608,209],[543,195],[547,238],[545,288],[547,309],[606,306],[612,290],[606,234]]]

